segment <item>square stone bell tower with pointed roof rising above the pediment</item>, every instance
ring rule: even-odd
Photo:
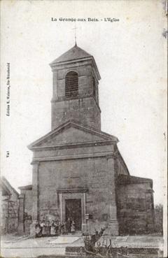
[[[52,130],[69,120],[100,130],[100,75],[94,57],[75,45],[50,66]]]

